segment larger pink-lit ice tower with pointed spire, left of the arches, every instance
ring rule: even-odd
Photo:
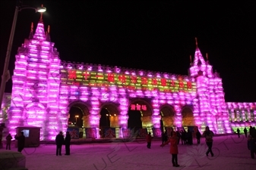
[[[64,128],[67,119],[58,119],[59,66],[58,51],[50,41],[49,26],[44,30],[41,14],[36,32],[32,23],[29,39],[16,55],[7,122],[11,135],[17,126],[34,125],[41,127],[40,140],[52,140]]]

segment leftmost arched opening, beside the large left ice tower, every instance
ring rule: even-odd
[[[68,128],[79,128],[79,138],[85,138],[85,128],[90,128],[90,112],[87,104],[75,101],[69,104]]]

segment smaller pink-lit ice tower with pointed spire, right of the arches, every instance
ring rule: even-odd
[[[201,128],[209,126],[217,134],[230,133],[229,115],[226,110],[223,83],[219,73],[213,73],[208,56],[204,60],[198,42],[194,53],[194,61],[191,62],[189,74],[197,82],[197,100],[199,104]]]

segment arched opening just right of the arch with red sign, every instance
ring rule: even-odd
[[[166,104],[163,105],[160,109],[160,116],[161,116],[161,130],[162,132],[165,131],[165,128],[171,128],[174,126],[175,122],[175,112],[172,106]]]

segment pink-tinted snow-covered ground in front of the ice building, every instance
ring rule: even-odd
[[[153,141],[151,149],[147,149],[146,142],[132,139],[118,143],[71,145],[70,156],[64,155],[64,147],[62,156],[56,156],[55,145],[41,144],[37,148],[25,148],[22,153],[26,156],[29,170],[256,169],[256,159],[251,159],[245,137],[232,135],[213,140],[213,157],[206,156],[207,147],[203,138],[201,145],[180,144],[178,162],[181,167],[177,168],[172,167],[169,145],[162,148],[161,141]]]

